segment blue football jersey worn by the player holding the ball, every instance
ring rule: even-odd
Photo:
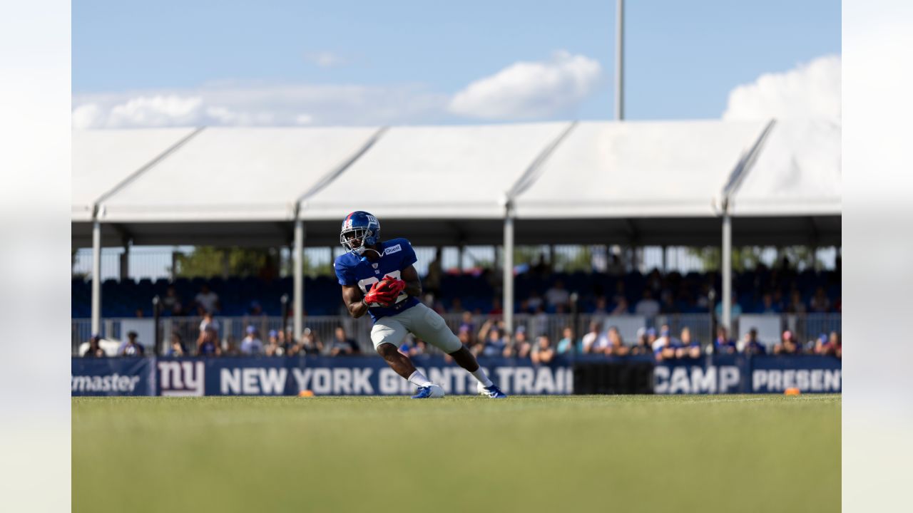
[[[378,251],[381,258],[372,262],[371,260],[362,260],[355,253],[346,253],[336,257],[333,262],[333,268],[336,269],[336,277],[340,280],[340,285],[357,286],[362,289],[362,294],[367,294],[375,283],[384,277],[392,276],[403,279],[401,272],[404,268],[415,264],[415,250],[404,238],[394,238],[382,242],[378,245]],[[396,303],[389,308],[372,307],[368,309],[371,319],[374,322],[388,315],[396,315],[404,309],[410,309],[418,304],[418,299],[406,295],[403,291]]]

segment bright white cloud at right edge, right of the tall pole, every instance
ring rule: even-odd
[[[724,120],[841,117],[840,56],[825,56],[782,73],[765,73],[729,92]]]

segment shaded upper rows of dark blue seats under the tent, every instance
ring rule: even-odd
[[[797,271],[788,260],[773,267],[763,264],[733,277],[732,313],[840,313],[840,262],[834,270]],[[339,313],[341,294],[335,277],[307,277],[304,309],[310,315]],[[496,314],[502,289],[501,273],[490,268],[473,272],[446,271],[439,259],[429,263],[423,278],[431,306],[440,312]],[[707,313],[722,309],[720,276],[716,272],[641,274],[621,272],[610,265],[607,272],[552,272],[539,263],[516,275],[514,289],[518,313],[566,313],[575,305],[582,313],[656,314]],[[237,317],[257,311],[277,317],[283,314],[281,298],[291,294],[291,278],[263,277],[177,278],[106,280],[102,284],[102,316],[125,318],[152,315],[152,297],[160,298],[162,315],[202,316],[206,311]],[[89,317],[89,283],[74,279],[73,318]],[[290,305],[287,304],[287,307]]]

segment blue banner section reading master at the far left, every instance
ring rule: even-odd
[[[154,358],[73,358],[72,395],[154,395]]]

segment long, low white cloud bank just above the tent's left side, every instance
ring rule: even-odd
[[[446,118],[447,97],[414,85],[210,84],[77,95],[73,127],[385,125]]]

